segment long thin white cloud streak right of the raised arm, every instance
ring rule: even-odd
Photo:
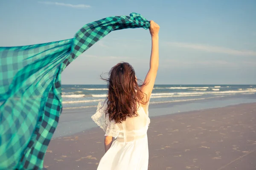
[[[223,54],[231,54],[231,55],[241,55],[241,56],[256,56],[256,51],[249,50],[234,50],[230,48],[204,45],[204,44],[194,44],[194,43],[184,43],[184,42],[167,42],[167,44],[180,48],[190,48],[200,51],[208,51],[212,53],[223,53]]]

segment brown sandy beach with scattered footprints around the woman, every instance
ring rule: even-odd
[[[148,170],[254,170],[256,103],[153,117],[148,143]],[[96,170],[104,153],[96,127],[52,139],[44,167]]]

